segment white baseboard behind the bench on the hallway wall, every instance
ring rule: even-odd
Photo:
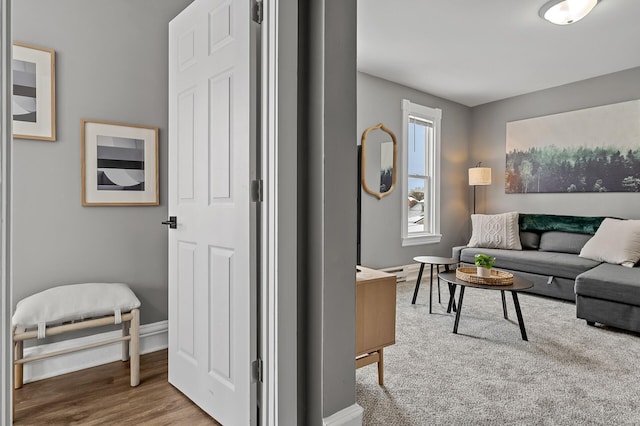
[[[159,321],[140,326],[140,354],[159,351],[168,347],[169,321]],[[108,331],[91,336],[69,339],[46,345],[24,348],[24,356],[39,355],[76,346],[87,345],[94,342],[113,339],[121,336],[120,330]],[[35,382],[85,368],[96,367],[102,364],[118,361],[122,357],[122,343],[100,346],[65,355],[45,358],[39,361],[28,362],[24,365],[24,382]]]

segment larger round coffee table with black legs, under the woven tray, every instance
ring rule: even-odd
[[[464,281],[456,277],[455,271],[449,272],[441,272],[438,274],[438,277],[447,283],[451,284],[453,287],[453,291],[451,292],[451,296],[449,299],[449,305],[453,302],[455,298],[455,290],[456,286],[460,286],[460,296],[458,296],[458,309],[456,311],[456,320],[453,324],[453,332],[458,333],[458,323],[460,322],[460,312],[462,311],[462,298],[464,297],[464,289],[466,287],[473,288],[481,288],[484,290],[499,290],[502,295],[502,311],[504,314],[504,318],[507,319],[507,304],[504,298],[504,292],[510,291],[511,296],[513,297],[513,305],[516,308],[516,315],[518,316],[518,325],[520,326],[520,334],[522,335],[522,340],[527,339],[527,331],[524,328],[524,320],[522,319],[522,312],[520,311],[520,302],[518,301],[518,292],[521,290],[526,290],[528,288],[533,287],[533,283],[529,280],[526,280],[517,275],[513,275],[513,284],[510,285],[486,285],[486,284],[476,284],[469,281]]]

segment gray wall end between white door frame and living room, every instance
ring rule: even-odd
[[[313,426],[355,403],[356,0],[299,5],[299,423]]]

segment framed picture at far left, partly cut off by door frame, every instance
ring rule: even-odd
[[[13,137],[56,140],[55,51],[13,44]]]

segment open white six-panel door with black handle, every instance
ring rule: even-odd
[[[251,31],[249,0],[169,24],[169,382],[224,425],[257,420]]]

